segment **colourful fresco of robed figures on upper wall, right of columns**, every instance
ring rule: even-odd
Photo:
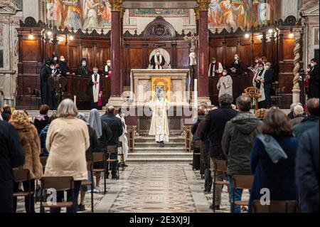
[[[211,0],[209,26],[233,31],[263,26],[273,20],[274,0]]]

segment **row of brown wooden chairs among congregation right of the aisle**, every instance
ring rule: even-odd
[[[201,140],[196,140],[194,142],[195,147],[201,150],[202,142]],[[199,154],[201,155],[201,153]],[[218,181],[216,179],[217,172],[223,174],[223,180]],[[215,212],[215,186],[222,185],[228,186],[230,182],[227,179],[227,161],[215,159],[213,161],[213,212]],[[253,175],[233,175],[233,189],[247,189],[250,190],[252,186],[254,176]],[[229,191],[229,190],[228,190]],[[236,201],[235,200],[235,190],[233,190],[232,199],[230,204],[239,206],[247,206],[249,201]],[[233,211],[234,212],[234,211]],[[270,201],[270,205],[262,205],[260,201],[252,201],[251,204],[252,213],[298,213],[299,208],[297,201]]]

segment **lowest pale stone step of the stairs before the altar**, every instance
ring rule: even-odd
[[[186,152],[175,152],[175,153],[159,153],[159,152],[149,152],[149,153],[129,153],[128,159],[180,159],[180,158],[191,158],[192,153]]]

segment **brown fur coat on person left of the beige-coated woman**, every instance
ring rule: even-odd
[[[38,131],[31,122],[11,122],[20,137],[20,142],[23,147],[23,152],[26,157],[26,162],[23,164],[23,169],[30,171],[31,179],[41,179],[43,175],[43,167],[40,162],[40,139]]]

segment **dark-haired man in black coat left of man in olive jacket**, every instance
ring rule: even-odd
[[[223,154],[221,145],[225,124],[238,114],[237,110],[233,110],[231,108],[232,103],[233,97],[231,95],[221,95],[219,97],[220,107],[209,112],[208,117],[206,117],[206,124],[203,126],[203,133],[208,134],[208,138],[210,140],[210,167],[212,174],[214,160],[225,160],[225,155]],[[217,181],[223,180],[222,173],[218,172],[215,174],[215,176]],[[215,186],[215,209],[217,210],[220,209],[221,192],[222,186]]]

